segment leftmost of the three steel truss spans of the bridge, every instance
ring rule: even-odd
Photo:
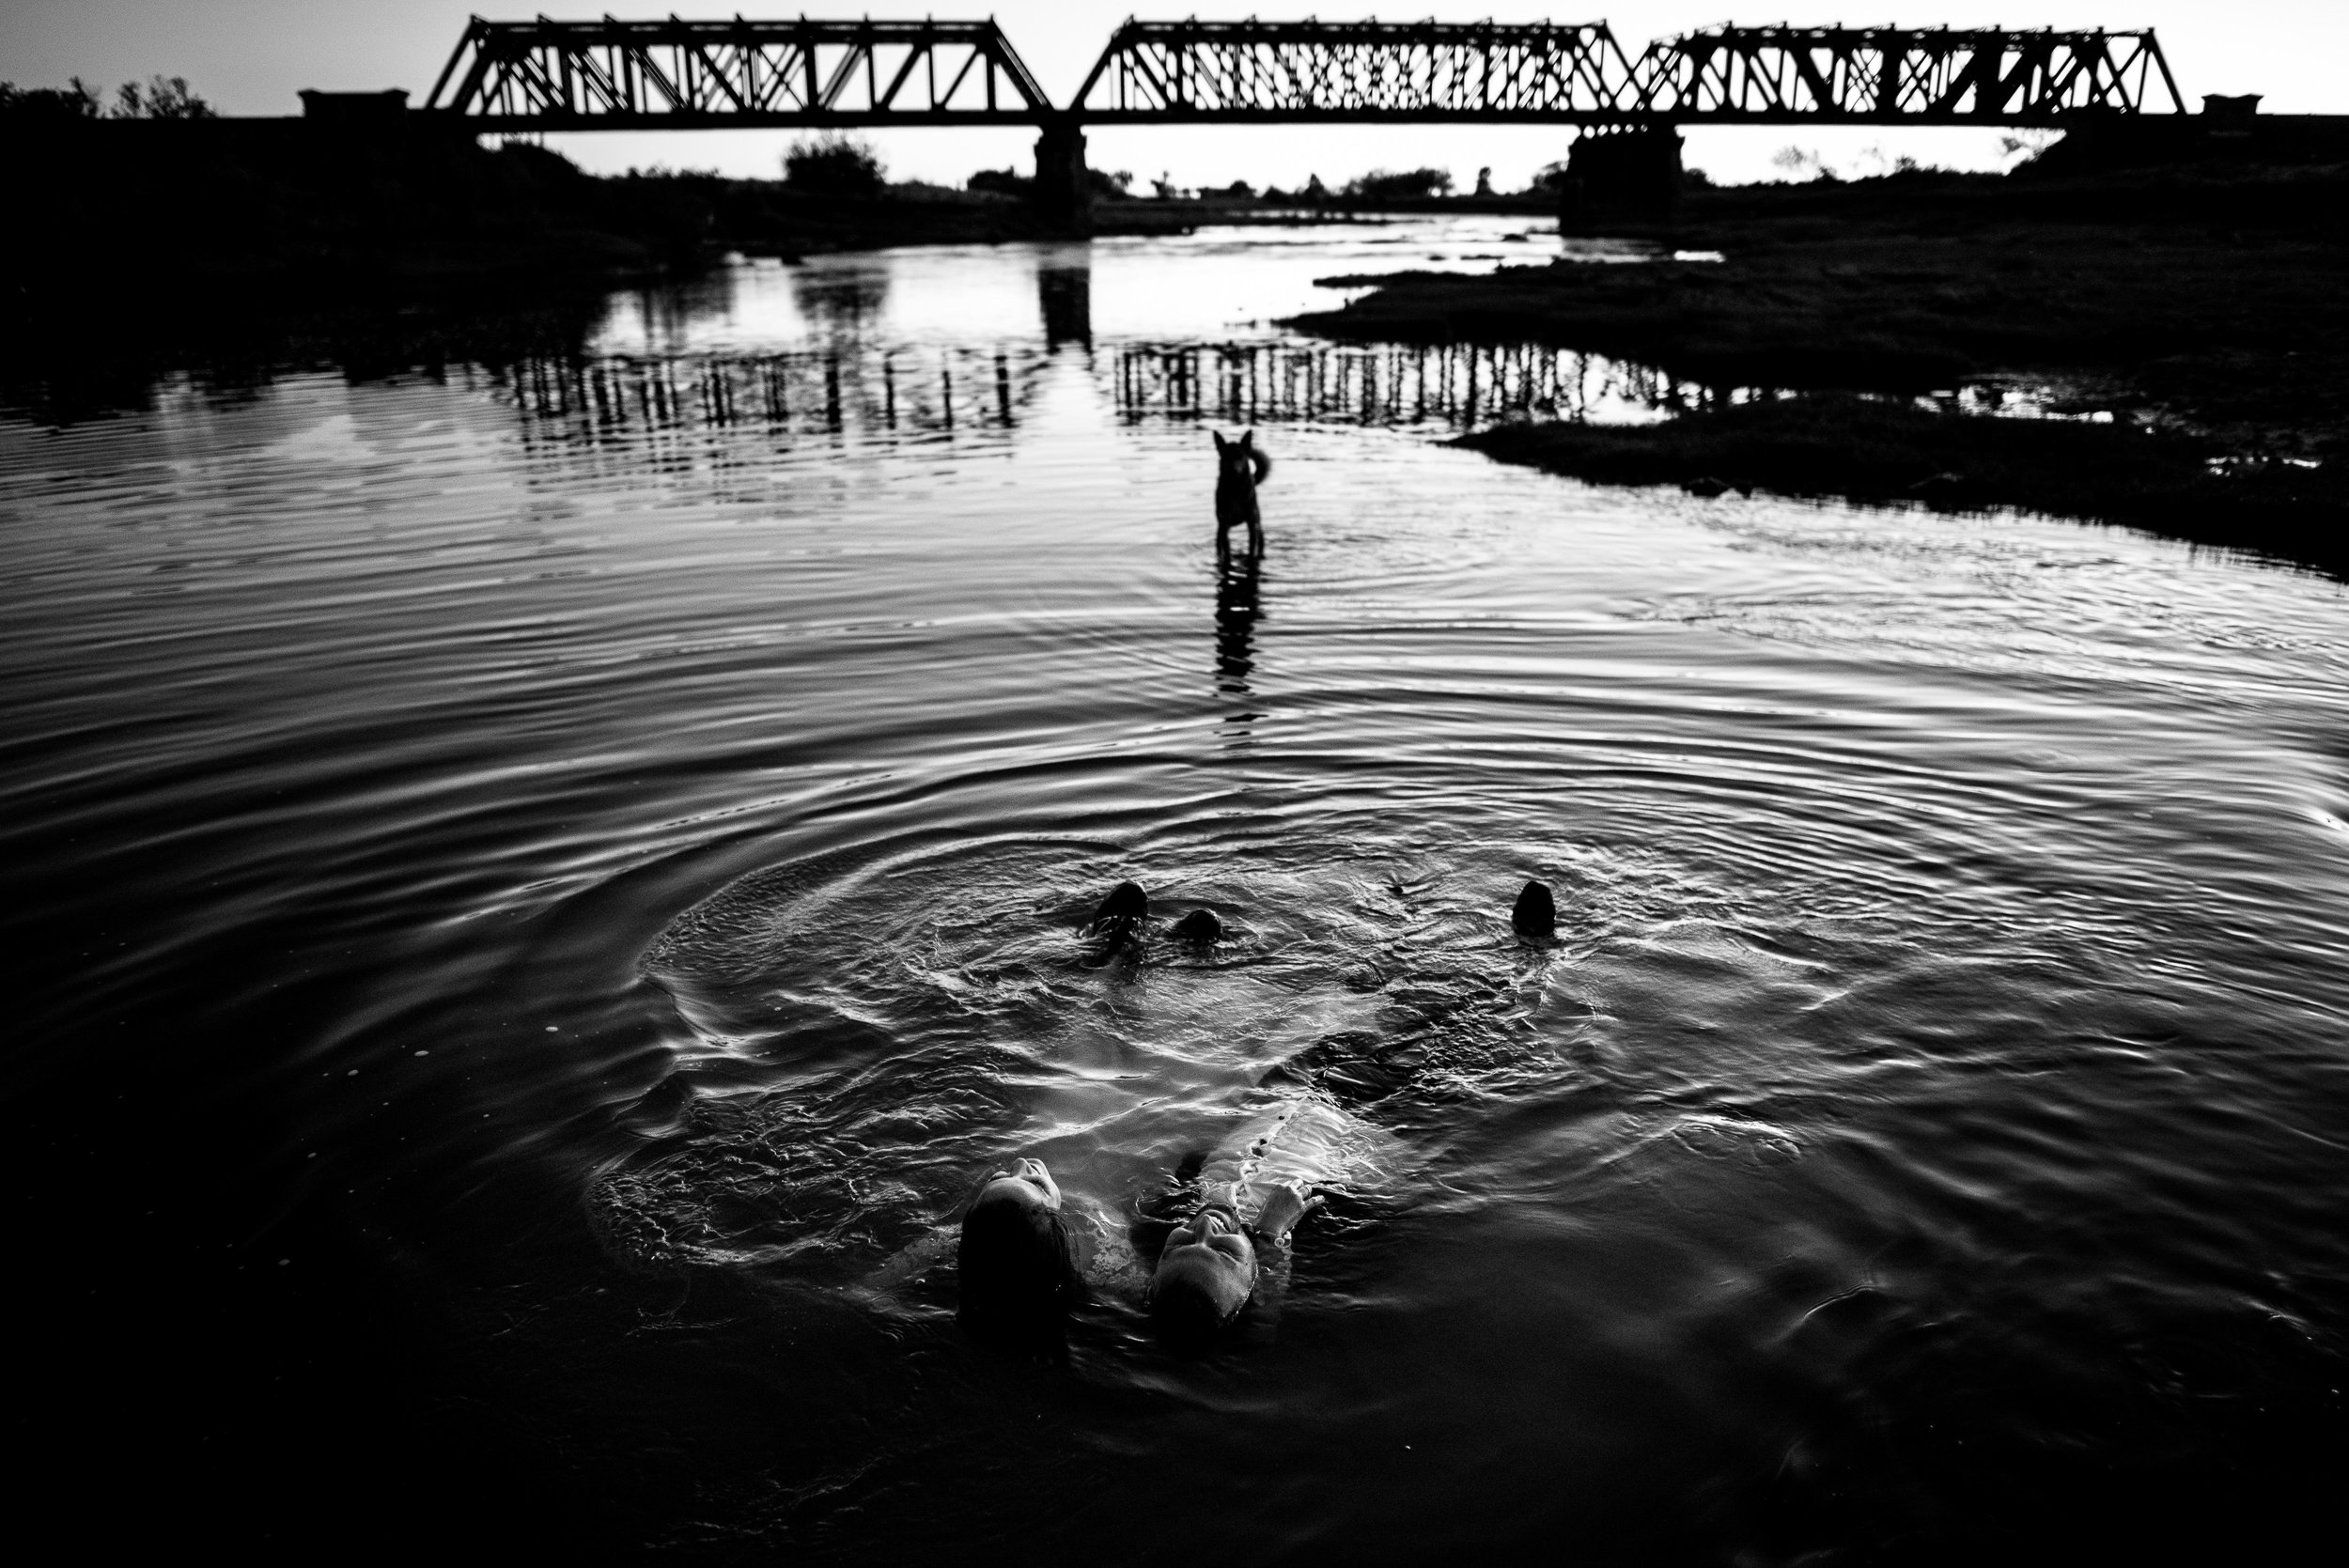
[[[482,21],[428,110],[500,129],[1038,124],[994,21]]]

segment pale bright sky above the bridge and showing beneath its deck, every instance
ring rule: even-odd
[[[1210,7],[1207,16],[1318,14],[1325,0],[1283,7],[1254,0],[1250,7]],[[630,7],[625,0],[529,0],[503,7],[496,0],[5,0],[0,5],[0,80],[21,87],[63,85],[80,75],[115,85],[129,77],[183,75],[216,108],[230,115],[291,115],[303,87],[371,89],[406,87],[423,101],[477,9],[498,19],[550,16],[984,16],[989,9],[1012,47],[1043,80],[1055,101],[1066,101],[1085,80],[1109,33],[1130,14],[1174,19],[1198,12],[1198,0],[1151,7],[1146,0],[792,0],[756,7],[691,0]],[[2349,0],[2065,0],[2041,5],[2001,0],[1945,7],[1907,0],[1891,16],[1846,12],[1837,5],[1755,0],[1616,0],[1588,7],[1541,7],[1525,0],[1395,0],[1384,12],[1337,5],[1325,19],[1386,16],[1412,21],[1609,21],[1626,54],[1651,38],[1715,26],[1724,19],[1750,23],[1832,23],[1846,16],[1910,26],[2013,26],[2013,28],[2156,28],[2187,106],[2206,92],[2267,94],[2262,108],[2276,113],[2349,113]],[[550,146],[594,171],[632,164],[721,169],[740,176],[773,176],[787,131],[672,131],[557,136]],[[1029,171],[1029,131],[907,129],[874,134],[874,146],[893,178],[961,183],[972,169],[1017,164]],[[1142,178],[1172,176],[1177,185],[1229,183],[1297,185],[1308,174],[1339,183],[1372,167],[1412,169],[1438,164],[1461,185],[1489,164],[1503,188],[1522,185],[1541,164],[1564,157],[1564,127],[1135,127],[1090,136],[1097,169],[1130,169]],[[1816,150],[1842,174],[1872,174],[1891,157],[1997,169],[1999,134],[1983,129],[1820,129],[1698,127],[1687,131],[1687,160],[1722,181],[1776,178],[1771,155],[1797,143]]]

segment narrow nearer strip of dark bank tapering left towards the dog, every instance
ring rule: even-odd
[[[2340,465],[2227,460],[2182,432],[1961,418],[1828,392],[1661,425],[1503,425],[1459,446],[1595,484],[1677,484],[1698,495],[2022,507],[2349,573]]]

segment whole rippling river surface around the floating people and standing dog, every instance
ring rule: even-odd
[[[1499,467],[1433,437],[1691,392],[1271,326],[1560,246],[1506,232],[745,263],[559,350],[19,392],[33,1509],[688,1561],[2316,1523],[2342,587]],[[1120,878],[1226,941],[1097,962]],[[1278,1312],[1167,1345],[1116,1239],[1299,1094],[1358,1157]],[[1052,1354],[940,1246],[1017,1155],[1109,1242]]]

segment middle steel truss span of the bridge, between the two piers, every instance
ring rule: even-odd
[[[1628,82],[1602,21],[1128,21],[1071,113],[1085,124],[1604,122]]]

